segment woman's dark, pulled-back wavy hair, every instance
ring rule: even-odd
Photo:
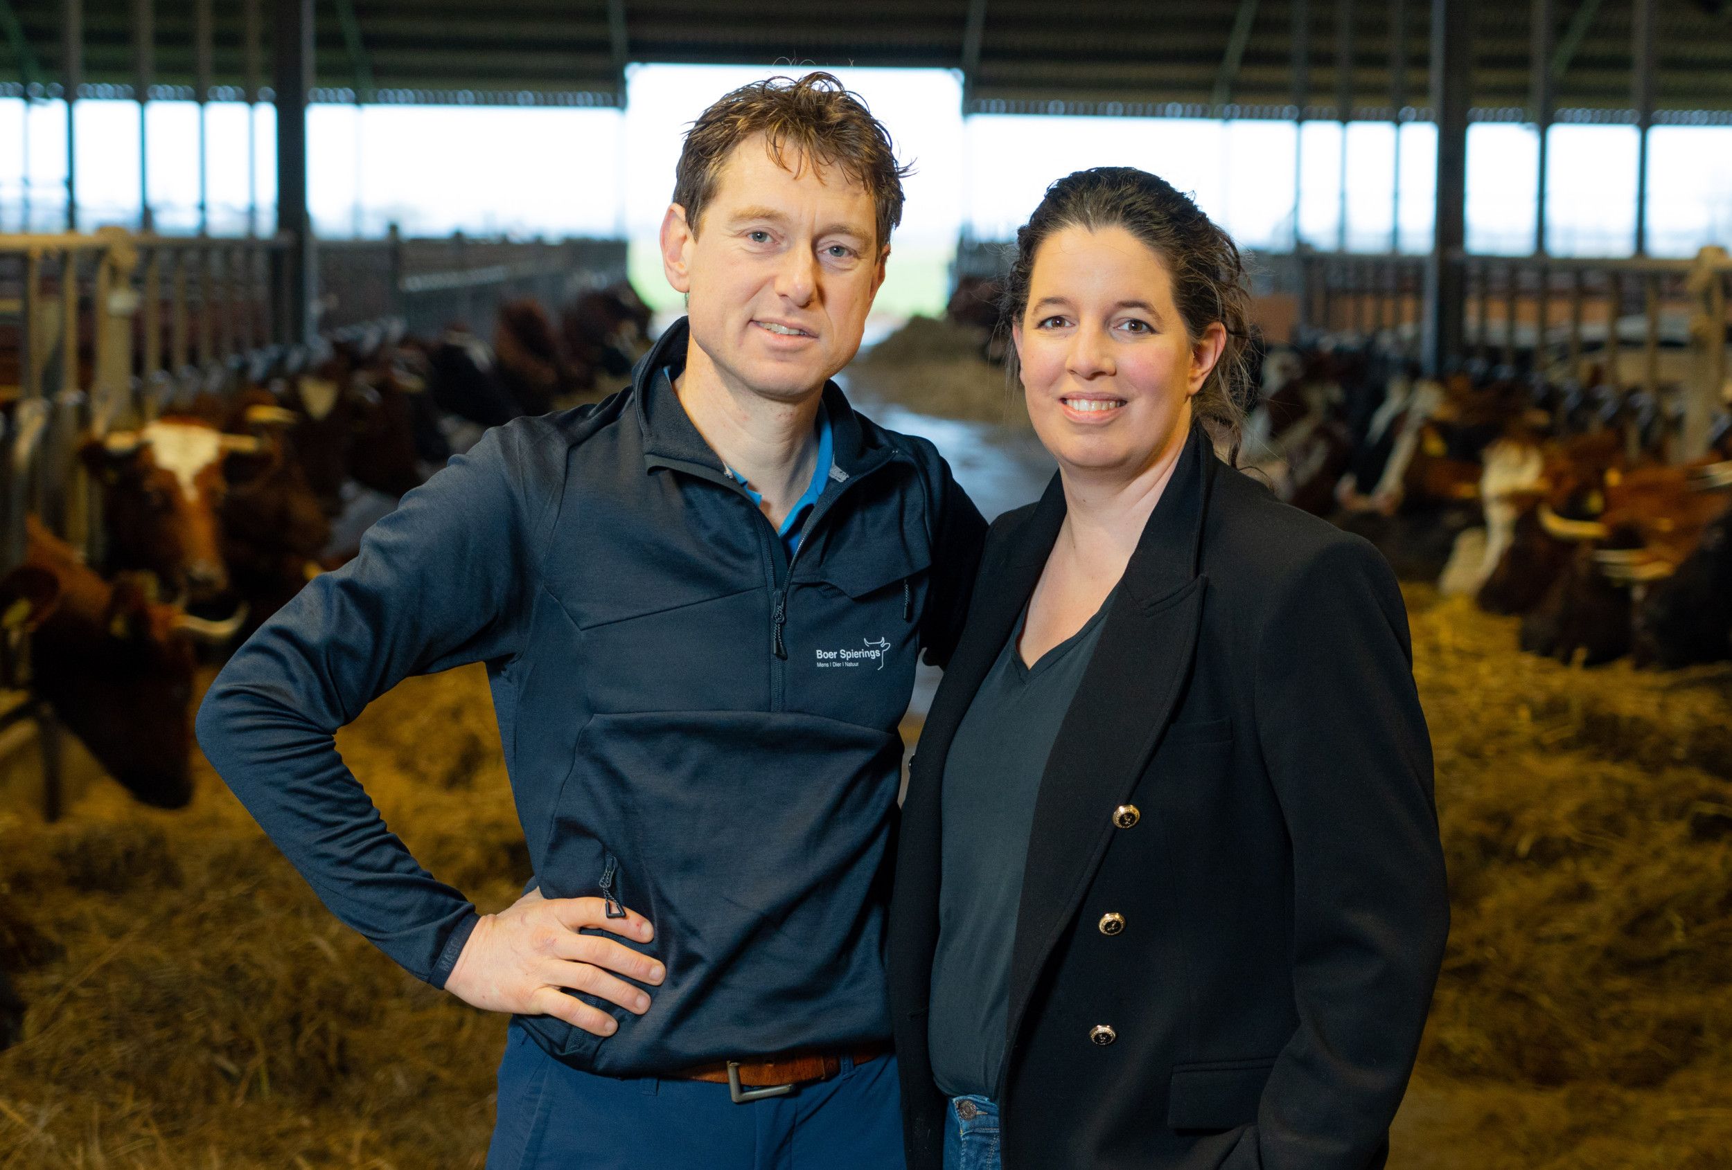
[[[1214,322],[1226,327],[1221,360],[1192,398],[1192,414],[1221,447],[1238,450],[1251,395],[1251,289],[1238,244],[1164,178],[1134,166],[1095,166],[1065,175],[1017,228],[1017,260],[1005,282],[1005,320],[1020,322],[1029,308],[1034,256],[1048,237],[1082,227],[1098,232],[1122,227],[1160,258],[1173,277],[1173,301],[1185,332],[1200,338]],[[1010,363],[1015,370],[1017,353]]]

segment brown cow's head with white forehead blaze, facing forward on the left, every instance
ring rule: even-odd
[[[258,440],[225,434],[197,415],[163,415],[135,431],[109,431],[83,445],[102,485],[104,569],[151,573],[187,604],[229,592],[216,519],[227,492],[223,457],[256,452]]]

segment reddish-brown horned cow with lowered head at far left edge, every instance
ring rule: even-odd
[[[35,516],[24,530],[0,613],[29,630],[31,689],[137,800],[185,807],[194,640],[225,642],[241,618],[192,618],[154,601],[151,578],[104,580]]]

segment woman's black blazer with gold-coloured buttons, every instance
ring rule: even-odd
[[[927,1052],[944,756],[1063,516],[1055,476],[992,524],[911,765],[889,942],[909,1170],[942,1165],[947,1108]],[[1005,1168],[1380,1167],[1446,931],[1394,575],[1193,428],[1041,781]]]

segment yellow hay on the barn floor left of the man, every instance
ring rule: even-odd
[[[405,682],[338,737],[483,909],[528,872],[490,722],[469,668]],[[64,948],[17,976],[0,1168],[480,1167],[504,1018],[338,924],[208,768],[197,786],[182,813],[100,793],[48,829],[0,826],[10,916]]]

